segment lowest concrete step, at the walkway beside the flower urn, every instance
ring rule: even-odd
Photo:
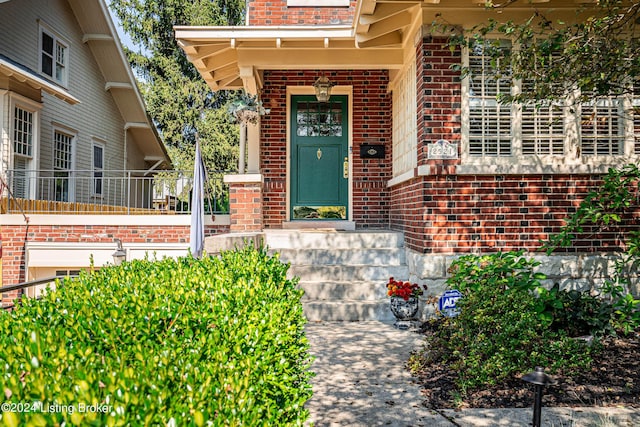
[[[395,317],[389,309],[389,301],[309,301],[303,305],[309,322],[380,320],[391,322]]]

